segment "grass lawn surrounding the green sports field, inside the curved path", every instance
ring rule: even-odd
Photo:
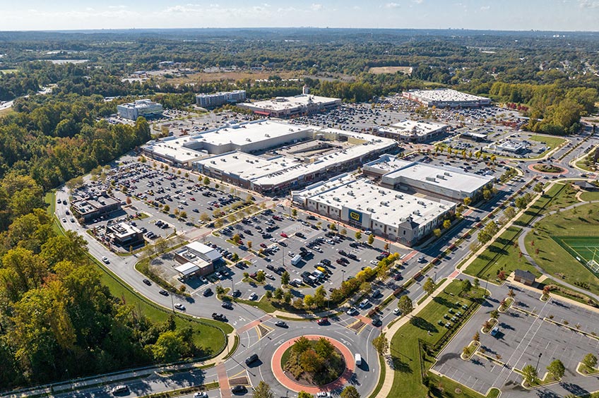
[[[599,237],[599,204],[581,205],[547,216],[525,238],[528,253],[545,272],[554,276],[557,281],[561,279],[569,284],[582,284],[586,289],[599,294],[599,278],[559,246],[552,236]],[[532,241],[535,241],[535,246],[532,246]]]

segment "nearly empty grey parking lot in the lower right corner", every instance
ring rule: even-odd
[[[502,289],[506,294],[507,289]],[[559,359],[564,363],[566,374],[564,385],[574,385],[584,380],[576,373],[576,366],[583,356],[589,352],[597,352],[599,341],[585,336],[568,327],[555,325],[553,322],[564,323],[588,333],[599,332],[599,313],[586,310],[579,306],[560,301],[557,298],[546,303],[539,300],[540,294],[528,289],[517,289],[514,304],[500,313],[499,332],[491,334],[480,333],[480,343],[484,354],[494,358],[499,363],[474,355],[470,361],[463,361],[459,354],[464,346],[470,343],[475,332],[480,331],[482,322],[487,320],[490,311],[497,308],[498,301],[490,298],[490,306],[482,306],[478,313],[446,346],[437,357],[433,369],[453,380],[472,388],[481,394],[486,394],[491,387],[504,387],[504,394],[511,389],[518,390],[522,376],[512,369],[522,369],[527,364],[536,366],[538,363],[539,377],[545,375],[545,368]],[[481,352],[481,349],[478,350]],[[506,365],[502,366],[500,363]]]

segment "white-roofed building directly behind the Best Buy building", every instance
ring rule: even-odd
[[[406,162],[394,156],[382,155],[364,164],[365,175],[380,179],[380,185],[405,193],[422,193],[434,198],[462,202],[473,201],[494,178],[468,173],[458,167],[437,167],[420,162]]]

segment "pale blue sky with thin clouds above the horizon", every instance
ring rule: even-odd
[[[599,30],[599,0],[0,0],[0,30]]]

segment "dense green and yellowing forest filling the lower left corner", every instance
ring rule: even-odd
[[[206,354],[189,327],[112,296],[83,238],[57,234],[44,205],[30,176],[0,181],[1,389]]]

